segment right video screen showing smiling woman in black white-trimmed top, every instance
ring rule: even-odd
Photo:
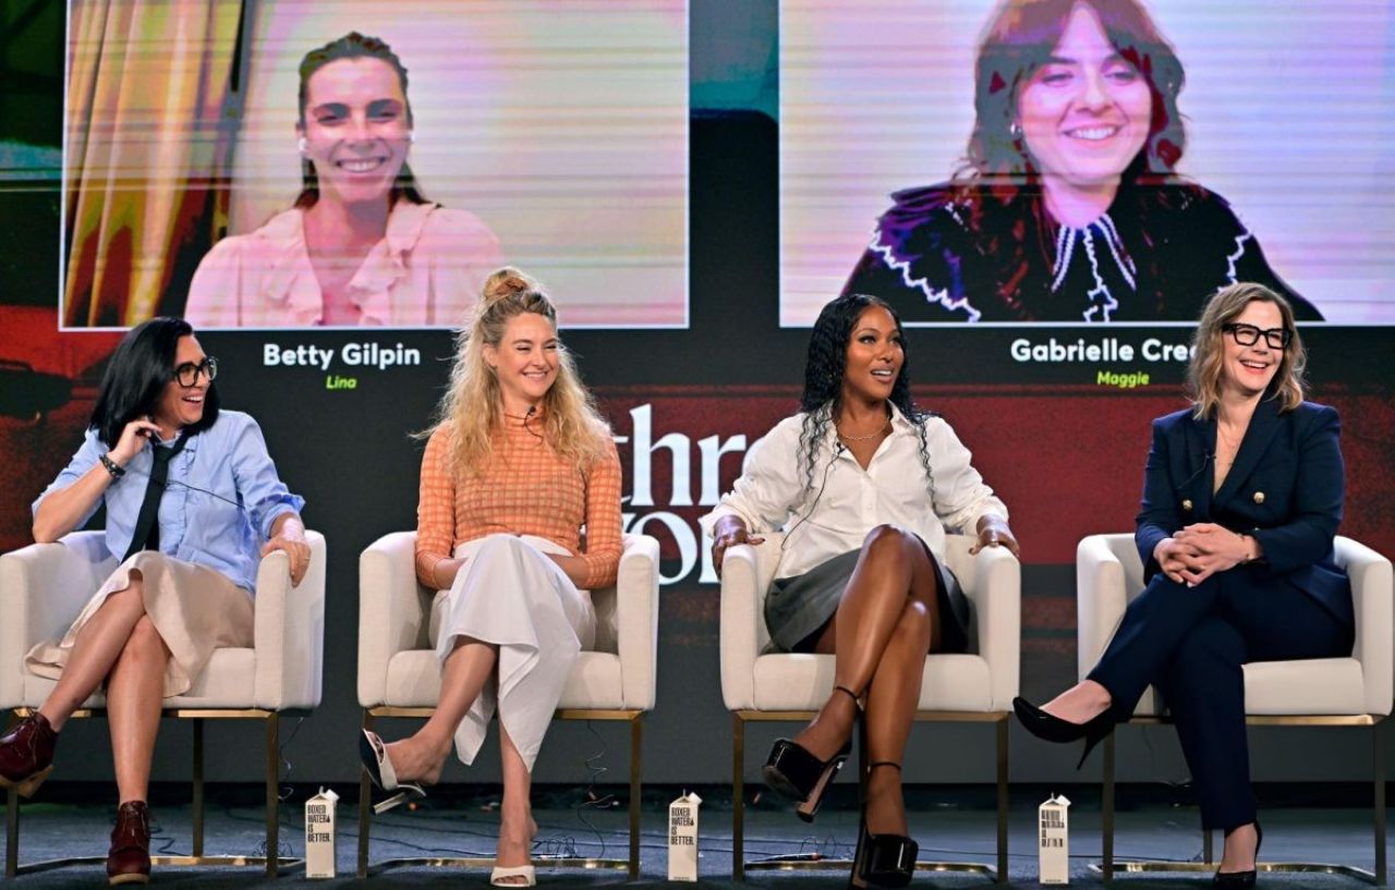
[[[781,1],[781,325],[845,289],[919,325],[1182,325],[1236,276],[1395,324],[1389,4],[1096,7]],[[1103,216],[1073,204],[1110,174]]]

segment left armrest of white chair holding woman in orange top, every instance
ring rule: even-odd
[[[417,533],[379,537],[359,557],[359,704],[382,704],[388,663],[425,647],[434,591],[417,583]]]

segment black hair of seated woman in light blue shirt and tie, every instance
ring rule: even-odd
[[[96,406],[88,428],[96,430],[107,448],[114,448],[121,430],[137,417],[155,412],[165,385],[174,375],[179,339],[191,336],[194,328],[183,318],[159,315],[131,328],[106,364]],[[208,382],[204,395],[204,417],[186,427],[190,434],[201,432],[218,420],[218,385]]]

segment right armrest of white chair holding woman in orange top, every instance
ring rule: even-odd
[[[626,534],[615,582],[617,650],[625,707],[653,710],[658,686],[658,541]]]

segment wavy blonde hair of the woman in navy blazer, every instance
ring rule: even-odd
[[[1293,324],[1293,307],[1282,296],[1274,293],[1264,285],[1253,282],[1236,282],[1215,292],[1207,307],[1201,311],[1201,321],[1197,324],[1197,333],[1191,340],[1191,364],[1187,365],[1187,395],[1193,405],[1193,417],[1202,420],[1214,417],[1216,406],[1221,403],[1221,378],[1225,371],[1225,343],[1226,336],[1222,329],[1240,317],[1250,303],[1272,303],[1279,307],[1283,317],[1283,328],[1292,332],[1289,345],[1279,359],[1279,370],[1274,372],[1269,391],[1265,398],[1279,399],[1281,412],[1292,412],[1303,403],[1304,379],[1307,370],[1307,350],[1303,347],[1303,338]]]

